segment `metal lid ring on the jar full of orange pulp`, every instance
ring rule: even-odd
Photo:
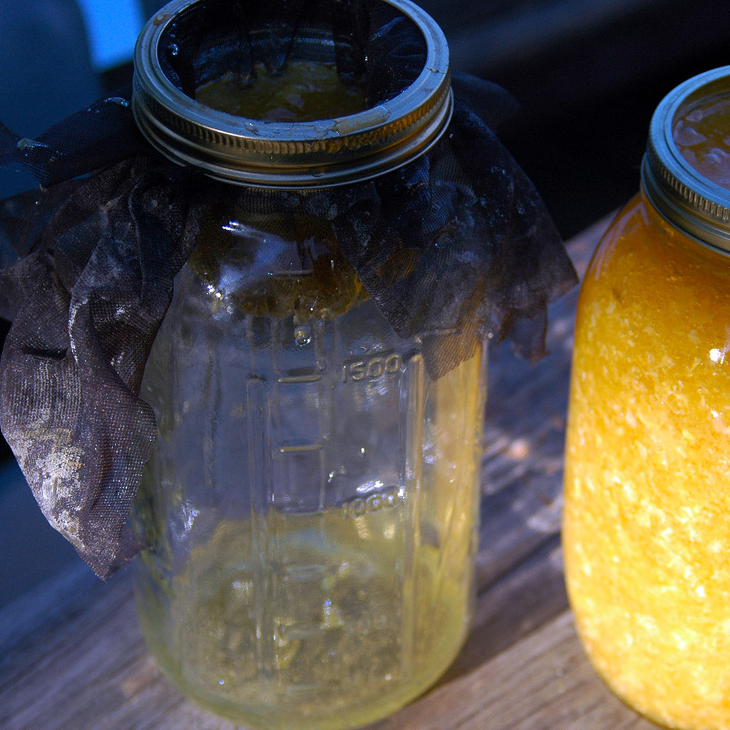
[[[730,96],[730,66],[699,74],[662,99],[650,123],[642,184],[672,226],[730,252],[730,191],[697,172],[683,158],[674,136],[682,112],[712,96]]]

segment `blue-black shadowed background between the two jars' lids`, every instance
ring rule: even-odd
[[[725,0],[422,0],[454,64],[520,112],[499,130],[564,237],[637,190],[651,114],[680,82],[730,64]]]

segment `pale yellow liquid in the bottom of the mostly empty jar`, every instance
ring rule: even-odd
[[[272,512],[266,591],[250,522],[220,523],[173,580],[171,607],[137,592],[148,645],[181,691],[248,726],[356,727],[396,710],[446,669],[469,621],[466,522],[450,550],[428,534],[406,546],[404,508]]]

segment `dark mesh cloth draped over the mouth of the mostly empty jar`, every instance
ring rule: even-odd
[[[371,5],[345,3],[334,47],[341,72],[366,74],[369,98],[382,101],[423,54],[398,18]],[[230,63],[216,55],[219,42],[247,59],[239,69],[283,66],[298,24],[269,26],[277,43],[249,26],[235,44],[205,28],[171,39],[171,77],[194,93],[201,75]],[[202,66],[186,55],[191,44]],[[523,356],[542,356],[548,302],[575,272],[537,191],[491,130],[512,112],[510,96],[471,77],[456,76],[454,89],[450,128],[427,155],[374,180],[301,192],[226,185],[166,161],[137,132],[128,93],[39,139],[0,126],[0,163],[26,166],[42,185],[0,201],[0,316],[12,322],[0,428],[47,520],[97,575],[144,547],[127,526],[155,439],[139,385],[211,201],[327,220],[393,328],[423,338],[433,377],[487,337],[510,336]]]

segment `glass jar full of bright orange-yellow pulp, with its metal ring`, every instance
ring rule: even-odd
[[[585,274],[566,444],[577,629],[618,696],[730,727],[730,66],[658,106]]]

